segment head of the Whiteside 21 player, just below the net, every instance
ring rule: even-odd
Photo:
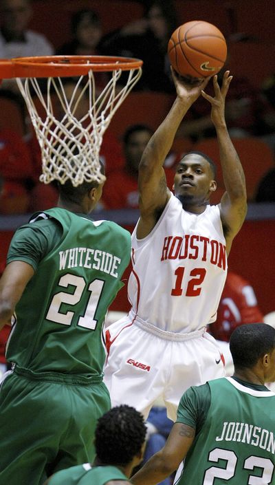
[[[104,165],[100,162],[100,172],[104,175]],[[74,186],[71,180],[65,184],[58,184],[59,201],[61,206],[79,206],[84,213],[91,212],[102,195],[104,182],[83,182]]]

